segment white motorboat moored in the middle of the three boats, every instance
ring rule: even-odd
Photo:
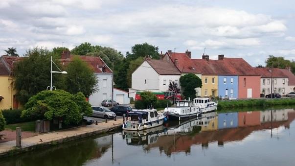
[[[167,113],[169,119],[178,120],[196,117],[202,113],[198,106],[194,106],[193,101],[189,100],[177,101],[176,107],[167,107],[164,112]]]

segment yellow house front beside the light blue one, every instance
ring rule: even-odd
[[[217,75],[202,75],[201,96],[202,97],[218,96],[218,76]]]

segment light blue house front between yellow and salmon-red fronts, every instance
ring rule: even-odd
[[[218,95],[238,98],[238,81],[237,75],[218,75]]]

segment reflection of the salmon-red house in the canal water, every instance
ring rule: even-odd
[[[251,126],[260,124],[260,111],[248,111],[238,113],[238,126]]]

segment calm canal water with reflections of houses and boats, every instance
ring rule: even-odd
[[[211,112],[0,159],[0,166],[295,166],[295,109]]]

